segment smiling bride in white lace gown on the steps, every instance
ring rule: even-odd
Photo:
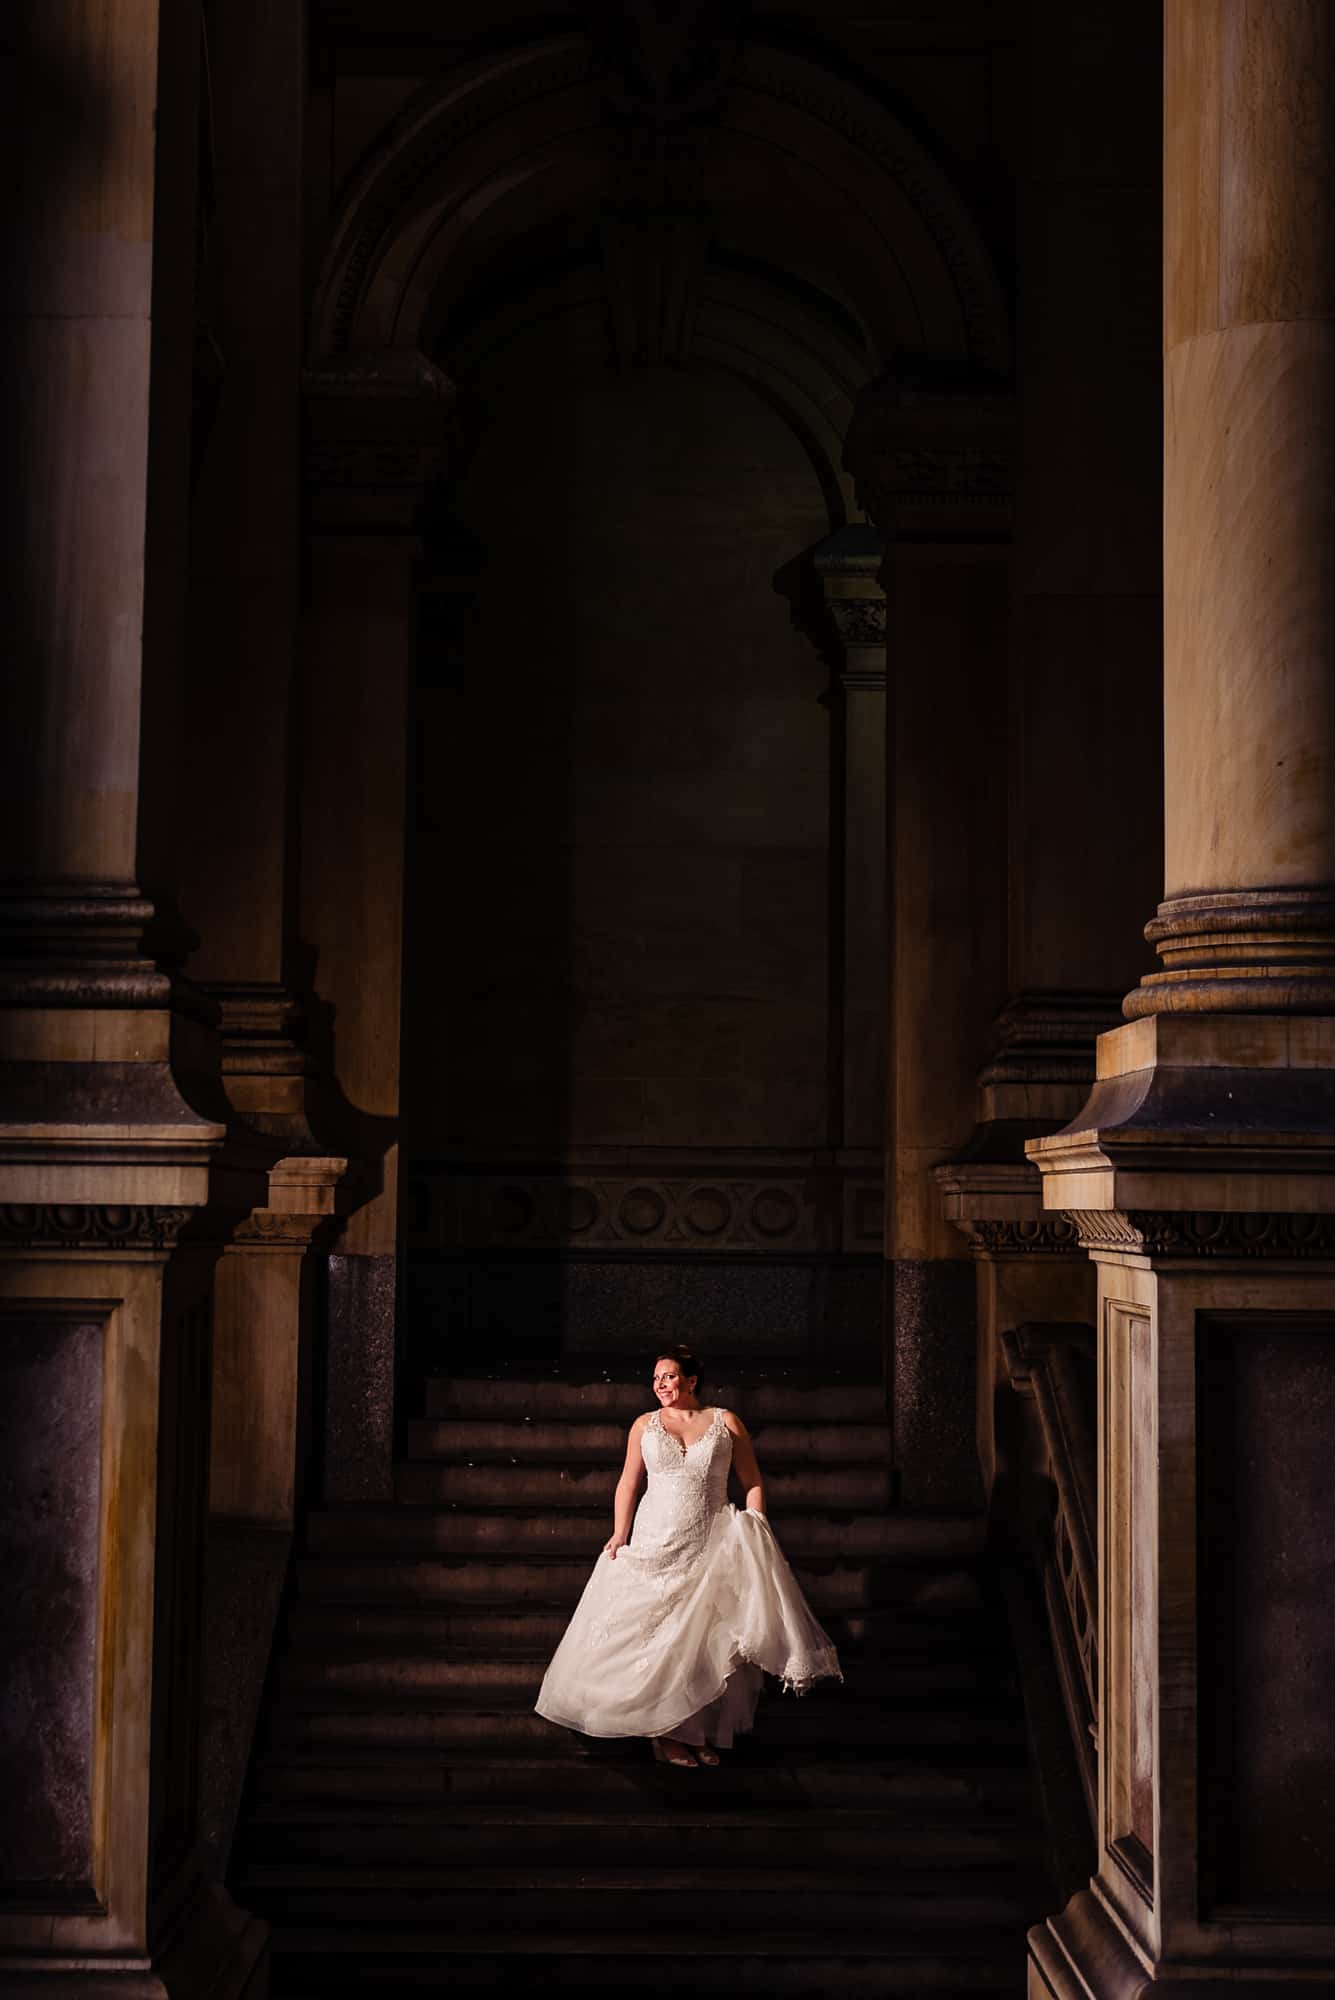
[[[536,1702],[586,1736],[648,1736],[681,1768],[717,1764],[749,1730],[761,1674],[797,1694],[843,1678],[765,1520],[745,1424],[701,1406],[699,1380],[689,1348],[658,1356],[658,1410],[630,1428],[612,1534]],[[729,1466],[745,1512],[727,1500]]]

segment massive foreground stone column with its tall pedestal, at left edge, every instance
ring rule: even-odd
[[[198,18],[12,8],[0,76],[26,204],[0,336],[0,1984],[236,1996],[266,1932],[198,1856],[200,1210],[258,1186],[220,1168],[208,1010],[144,950],[138,888],[164,846],[146,696],[180,670]]]

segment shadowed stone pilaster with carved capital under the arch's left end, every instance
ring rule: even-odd
[[[418,516],[454,438],[424,356],[306,378],[310,542],[302,632],[300,936],[314,952],[320,1116],[356,1162],[330,1258],[324,1488],[394,1486],[398,1104],[408,714]],[[442,894],[444,894],[442,886]]]

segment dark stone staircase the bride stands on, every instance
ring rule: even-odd
[[[979,1524],[889,1510],[879,1388],[711,1396],[843,1686],[697,1772],[532,1712],[650,1406],[584,1370],[430,1384],[398,1502],[310,1520],[234,1864],[274,1994],[1023,1994],[1053,1904]]]

